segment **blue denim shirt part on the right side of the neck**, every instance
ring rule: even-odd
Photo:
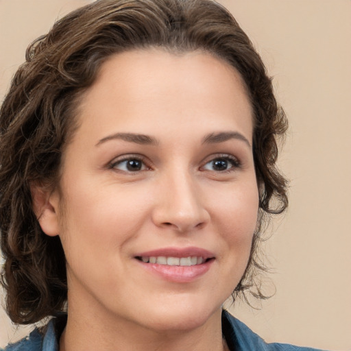
[[[222,331],[230,350],[317,351],[313,348],[302,348],[287,343],[266,343],[243,322],[240,322],[227,311],[222,313]]]

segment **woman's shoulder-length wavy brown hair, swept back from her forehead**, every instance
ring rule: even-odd
[[[64,146],[77,128],[80,96],[106,58],[148,47],[173,53],[202,50],[239,71],[253,110],[254,164],[261,189],[258,227],[267,215],[287,207],[287,182],[276,168],[277,141],[287,121],[260,56],[233,16],[212,0],[95,1],[65,16],[28,47],[1,106],[2,284],[13,322],[29,324],[57,315],[67,295],[60,239],[41,230],[30,186],[58,186]],[[265,298],[256,282],[256,272],[264,269],[256,254],[259,240],[260,230],[234,298],[245,291]]]

